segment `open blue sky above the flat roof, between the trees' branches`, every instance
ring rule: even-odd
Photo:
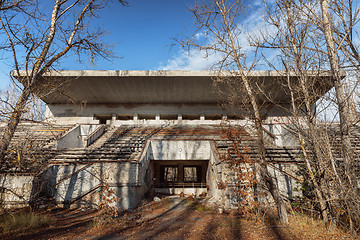
[[[96,65],[81,64],[71,56],[64,59],[61,70],[206,70],[216,61],[216,56],[204,59],[203,54],[182,50],[173,38],[186,31],[194,31],[193,18],[187,8],[193,0],[129,0],[123,7],[115,0],[103,10],[96,23],[109,35],[106,41],[114,44],[114,53],[121,59],[100,60]],[[259,0],[249,1],[245,21],[256,24],[259,18]],[[47,2],[48,3],[48,2]],[[49,2],[50,4],[50,2]],[[1,54],[0,88],[9,83],[11,58]]]

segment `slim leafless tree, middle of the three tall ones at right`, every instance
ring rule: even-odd
[[[314,101],[320,96],[313,91],[316,79],[320,77],[317,74],[314,75],[314,70],[318,70],[316,60],[319,58],[316,52],[308,49],[309,43],[315,38],[312,35],[313,24],[309,18],[304,18],[304,13],[298,11],[297,6],[290,0],[277,0],[272,7],[265,2],[265,7],[267,10],[265,20],[276,29],[276,33],[263,34],[260,38],[252,37],[252,44],[279,51],[281,70],[285,68],[287,73],[287,83],[283,87],[288,89],[291,96],[292,111],[290,114],[294,119],[291,122],[296,126],[293,130],[298,136],[305,166],[320,205],[321,215],[325,221],[328,221],[326,194],[318,182],[314,169],[314,163],[322,160],[322,154],[320,146],[317,144],[320,137],[316,128],[316,111],[314,111]],[[274,65],[271,67],[276,70],[279,68]],[[312,74],[309,74],[309,71]],[[295,78],[296,81],[291,78]],[[269,100],[274,102],[272,99]],[[289,111],[288,109],[284,110]],[[307,131],[304,128],[305,125]],[[308,146],[312,146],[312,156],[308,153]],[[316,161],[311,160],[313,156]]]

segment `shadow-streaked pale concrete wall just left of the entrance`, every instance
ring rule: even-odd
[[[49,188],[53,189],[59,204],[96,207],[110,191],[113,192],[112,205],[129,209],[134,208],[148,190],[143,184],[145,177],[139,176],[138,165],[130,162],[54,165],[44,174],[44,180],[56,179],[49,181]]]

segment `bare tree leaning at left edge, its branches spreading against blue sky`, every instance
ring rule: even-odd
[[[79,58],[89,54],[91,61],[112,56],[102,40],[104,31],[92,27],[91,22],[110,0],[55,0],[52,9],[36,0],[28,0],[27,5],[19,5],[21,2],[0,2],[4,9],[0,11],[1,31],[6,36],[4,49],[11,53],[14,75],[23,85],[0,142],[2,168],[6,167],[4,157],[29,98],[33,93],[41,94],[56,87],[54,83],[44,82],[41,76],[70,52]],[[127,4],[125,0],[119,2]],[[43,9],[51,14],[47,15]]]

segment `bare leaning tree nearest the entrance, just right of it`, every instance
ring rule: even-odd
[[[239,96],[239,91],[242,91],[241,89],[245,90],[246,98],[244,101],[246,102],[246,106],[249,107],[249,112],[251,113],[250,118],[254,120],[256,131],[260,181],[265,184],[271,193],[277,206],[280,221],[287,223],[288,216],[285,202],[280,195],[273,177],[268,171],[268,163],[265,155],[264,130],[260,115],[261,104],[257,99],[257,89],[254,87],[251,78],[249,78],[250,71],[255,67],[256,56],[253,56],[252,61],[247,61],[248,54],[243,49],[244,46],[242,44],[244,34],[242,34],[241,31],[239,18],[244,16],[244,5],[240,0],[199,1],[191,8],[191,12],[198,26],[197,33],[207,36],[210,41],[204,43],[204,41],[197,38],[197,35],[194,35],[180,41],[180,44],[191,49],[205,51],[207,54],[216,53],[221,55],[222,60],[216,67],[219,70],[227,70],[227,73],[232,75],[230,79],[234,80],[229,80],[230,85],[228,86],[235,90],[234,93],[237,96]],[[220,77],[217,80],[227,81],[224,79],[228,78]],[[233,85],[232,81],[235,81],[236,85]],[[237,88],[238,85],[241,85],[242,88]]]

